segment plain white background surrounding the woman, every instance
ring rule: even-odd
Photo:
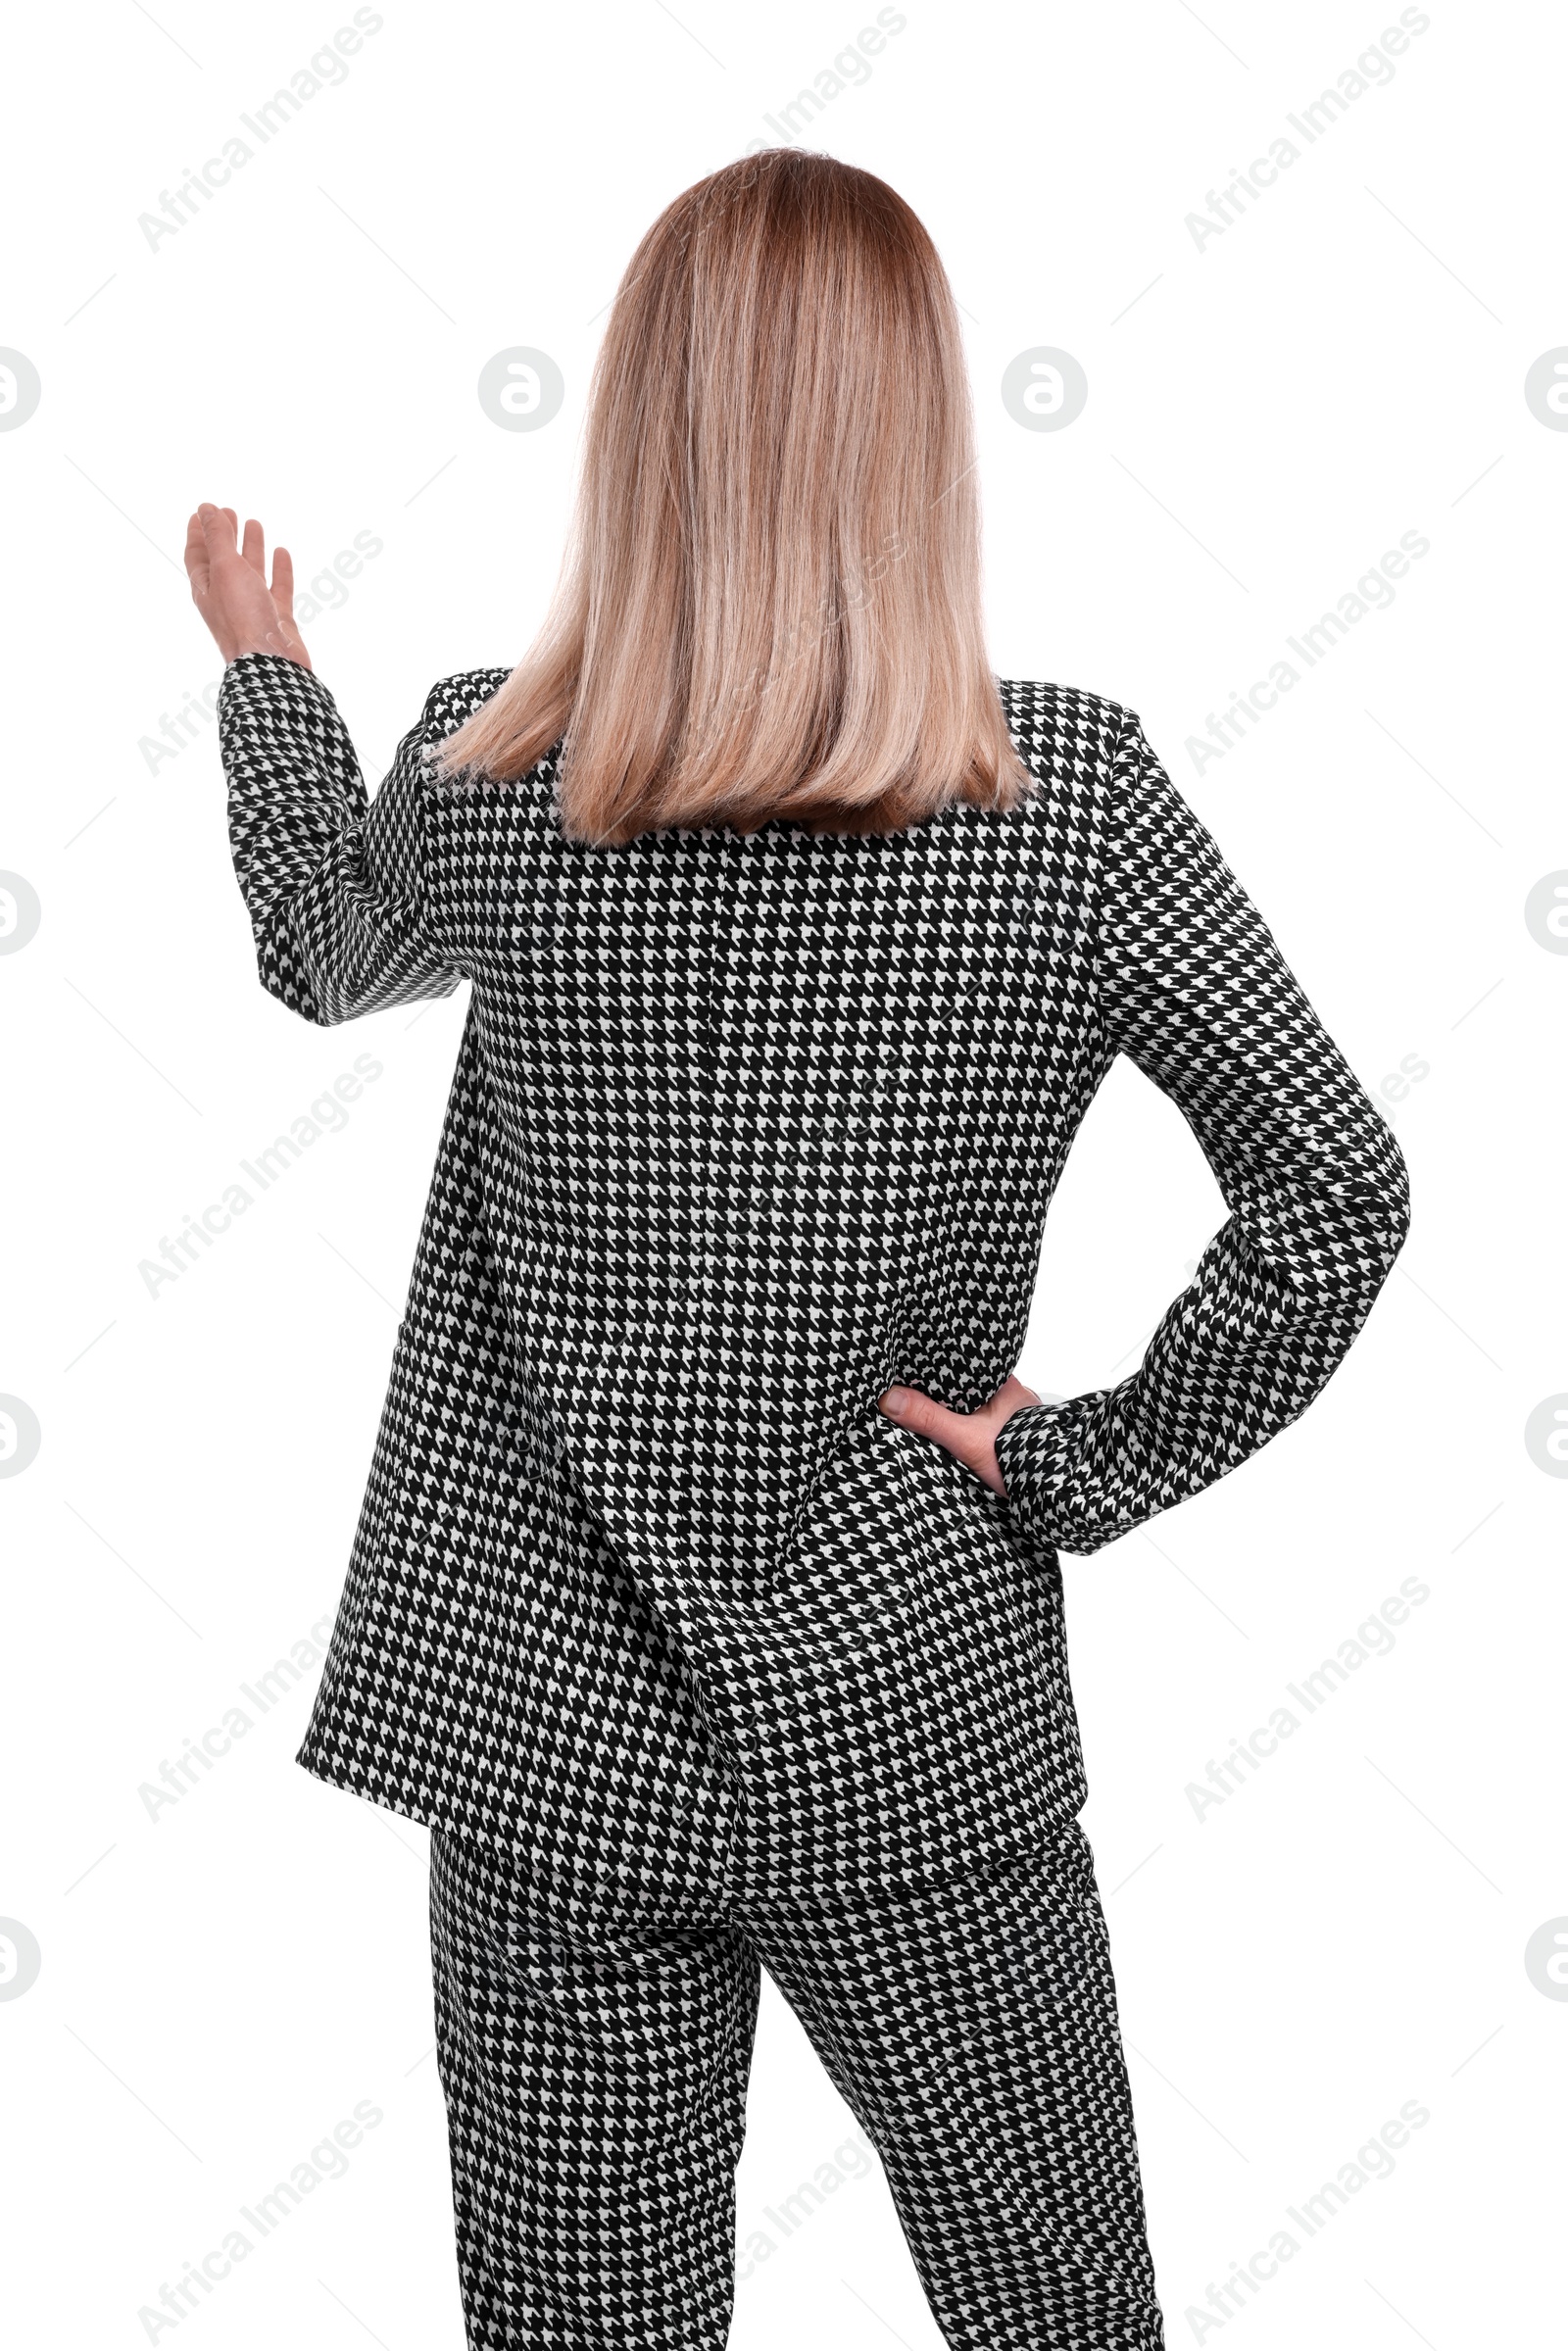
[[[1568,1914],[1568,1483],[1526,1420],[1568,1389],[1568,959],[1523,910],[1568,868],[1568,433],[1523,379],[1568,343],[1566,28],[1425,14],[1201,247],[1187,214],[1396,7],[907,0],[809,134],[903,190],[964,306],[994,668],[1143,715],[1410,1164],[1406,1251],[1307,1418],[1065,1563],[1168,2337],[1227,2351],[1526,2344],[1561,2304],[1568,2003],[1526,1942]],[[336,1606],[463,1020],[458,994],[322,1032],[256,985],[216,729],[143,748],[219,677],[186,515],[259,515],[301,585],[381,541],[306,630],[374,788],[433,679],[510,663],[543,611],[635,240],[875,9],[388,5],[343,85],[153,249],[139,214],[348,16],[99,0],[12,33],[0,343],[42,376],[0,433],[0,868],[42,903],[0,957],[0,1389],[42,1427],[0,1481],[0,1914],[42,1951],[0,2001],[28,2346],[463,2339],[423,1831],[294,1766],[315,1674],[179,1803],[139,1794]],[[567,379],[538,433],[475,395],[515,343]],[[1034,346],[1086,369],[1065,430],[1001,404]],[[1194,766],[1187,738],[1403,531],[1429,552],[1396,600]],[[150,1295],[141,1260],[367,1051],[346,1126]],[[1117,1067],[1025,1378],[1124,1375],[1222,1213]],[[1211,1759],[1406,1578],[1427,1596],[1392,1650],[1199,1813]],[[162,2283],[357,2102],[383,2121],[346,2175],[150,2335]],[[1392,2177],[1307,2238],[1286,2208],[1406,2102],[1429,2121]],[[741,2236],[776,2250],[741,2351],[940,2344],[863,2156],[795,2231],[766,2217],[851,2137],[766,1987]],[[1279,2229],[1300,2250],[1246,2306],[1204,2299]]]

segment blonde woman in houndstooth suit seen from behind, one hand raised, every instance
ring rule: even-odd
[[[545,630],[369,804],[235,527],[188,564],[263,985],[473,990],[301,1747],[433,1829],[470,2344],[724,2342],[762,1965],[950,2344],[1161,2344],[1058,1547],[1324,1387],[1389,1128],[1138,717],[990,675],[954,306],[865,172],[654,223]],[[1138,1371],[1044,1404],[1117,1053],[1229,1215]]]

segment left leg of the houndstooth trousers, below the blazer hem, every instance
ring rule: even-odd
[[[437,2064],[470,2351],[719,2351],[759,1968],[430,1838]]]

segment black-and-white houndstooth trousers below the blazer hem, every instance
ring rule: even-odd
[[[957,1881],[736,1911],[541,1900],[437,1831],[430,1944],[470,2351],[719,2351],[764,1965],[882,2158],[952,2351],[1164,2344],[1077,1822]],[[825,2168],[788,2222],[741,2217],[745,2271],[853,2193]]]

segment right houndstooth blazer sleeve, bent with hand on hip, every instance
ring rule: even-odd
[[[1107,1044],[1180,1107],[1229,1215],[1131,1378],[1025,1406],[997,1439],[1016,1526],[1067,1552],[1201,1493],[1305,1413],[1410,1225],[1392,1128],[1131,712],[1095,983]]]

